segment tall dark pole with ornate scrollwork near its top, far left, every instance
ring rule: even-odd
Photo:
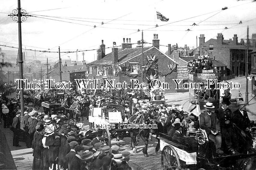
[[[22,32],[21,23],[26,21],[26,18],[30,15],[26,13],[25,10],[21,9],[21,0],[18,0],[18,8],[12,10],[12,13],[8,16],[12,17],[13,21],[18,22],[18,36],[19,36],[19,68],[20,68],[20,79],[23,79],[23,57],[22,57]],[[21,103],[21,116],[24,115],[24,91],[23,91],[23,81],[21,81],[20,90],[20,103]]]

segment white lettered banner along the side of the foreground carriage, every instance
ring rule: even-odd
[[[160,139],[160,150],[161,151],[167,145],[170,145],[170,144],[165,142],[164,140]],[[173,147],[174,150],[177,152],[177,154],[179,155],[179,159],[181,159],[184,162],[186,162],[186,165],[196,164],[196,152],[188,153],[185,150],[182,150],[182,149],[180,149],[178,147],[174,147],[172,145],[171,145],[171,147]]]

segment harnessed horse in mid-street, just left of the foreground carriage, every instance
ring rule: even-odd
[[[137,124],[137,125],[142,125],[142,124],[154,124],[154,121],[152,121],[150,114],[148,113],[143,113],[139,115],[133,115],[128,119],[128,124]],[[144,154],[144,157],[148,157],[147,154],[147,145],[148,145],[148,140],[150,133],[153,133],[153,129],[149,128],[131,128],[129,130],[130,132],[130,137],[131,137],[131,146],[130,149],[133,150],[134,153],[137,153],[137,149],[135,146],[138,145],[139,143],[139,138],[143,140],[145,143],[145,146],[142,149],[142,152]]]

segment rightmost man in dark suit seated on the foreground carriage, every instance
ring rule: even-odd
[[[232,113],[232,123],[234,125],[234,128],[236,129],[234,132],[237,134],[238,139],[238,146],[237,150],[240,153],[247,153],[247,148],[251,144],[248,144],[251,139],[249,139],[248,136],[250,135],[250,119],[248,117],[248,114],[246,112],[245,102],[244,101],[238,101],[237,102],[238,109]],[[239,130],[241,129],[241,130]],[[241,136],[243,135],[243,137]],[[245,138],[247,141],[245,141],[243,138]]]

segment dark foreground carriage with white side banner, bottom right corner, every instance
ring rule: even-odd
[[[217,157],[212,144],[201,131],[180,144],[160,133],[161,167],[163,170],[255,170],[256,150],[249,154]]]

